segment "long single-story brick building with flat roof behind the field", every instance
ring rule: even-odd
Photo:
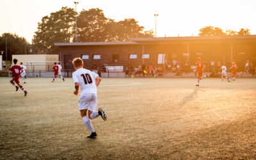
[[[60,61],[66,70],[72,70],[72,60],[81,57],[86,68],[108,66],[136,67],[163,65],[179,60],[194,64],[197,57],[205,65],[220,61],[230,66],[231,61],[244,66],[246,60],[256,63],[256,35],[246,36],[184,36],[131,38],[129,42],[55,43]]]

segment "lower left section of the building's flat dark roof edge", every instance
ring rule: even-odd
[[[74,42],[74,43],[54,43],[56,46],[74,46],[74,45],[131,45],[137,44],[136,42]]]

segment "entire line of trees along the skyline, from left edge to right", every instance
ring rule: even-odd
[[[31,54],[29,52],[31,46],[32,53],[42,51],[58,54],[58,47],[54,46],[54,42],[75,42],[76,40],[76,17],[77,42],[120,42],[129,41],[130,38],[154,37],[153,30],[144,31],[144,27],[133,18],[115,22],[107,18],[99,8],[83,9],[77,13],[73,8],[62,7],[61,10],[42,17],[41,22],[38,22],[32,45],[24,37],[3,33],[0,36],[0,51],[4,51],[3,60],[5,60],[6,48],[11,54]],[[250,29],[223,31],[221,28],[206,26],[201,28],[198,34],[198,36],[227,35],[250,35]],[[11,54],[8,54],[8,60],[11,60]]]

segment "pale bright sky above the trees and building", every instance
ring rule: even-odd
[[[77,12],[100,8],[116,22],[134,18],[145,31],[157,31],[157,37],[197,36],[205,26],[223,31],[248,28],[251,35],[256,35],[256,0],[76,1]],[[0,35],[16,33],[31,43],[42,17],[61,10],[61,6],[75,8],[74,0],[0,0]]]

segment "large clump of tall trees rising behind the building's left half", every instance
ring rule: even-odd
[[[54,42],[75,42],[76,15],[72,8],[62,7],[38,23],[33,43],[36,49],[54,54],[58,47]],[[153,37],[153,31],[144,31],[135,19],[115,22],[105,17],[103,10],[92,8],[82,10],[77,16],[78,42],[113,42],[125,41],[134,37]]]

